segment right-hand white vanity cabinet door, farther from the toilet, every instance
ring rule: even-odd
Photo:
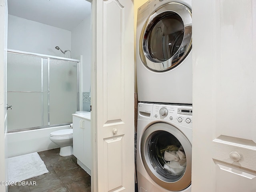
[[[84,161],[82,163],[92,170],[91,122],[84,120]]]

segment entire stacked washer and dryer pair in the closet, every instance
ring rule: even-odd
[[[191,4],[149,0],[138,9],[139,192],[191,192]]]

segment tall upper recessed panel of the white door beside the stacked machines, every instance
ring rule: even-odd
[[[115,14],[112,14],[115,13]],[[103,23],[106,32],[103,34],[103,70],[104,73],[104,108],[106,123],[113,120],[122,121],[124,115],[124,7],[118,1],[105,1],[103,4]],[[112,75],[113,72],[115,75]],[[113,86],[115,85],[115,86]]]

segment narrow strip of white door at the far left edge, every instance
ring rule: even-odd
[[[7,131],[7,96],[6,96],[6,66],[7,66],[7,4],[0,0],[0,181],[7,181],[6,163],[6,131]],[[0,185],[0,191],[6,191],[7,186]]]

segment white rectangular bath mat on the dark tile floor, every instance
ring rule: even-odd
[[[37,152],[8,158],[8,178],[10,182],[24,181],[48,172]]]

